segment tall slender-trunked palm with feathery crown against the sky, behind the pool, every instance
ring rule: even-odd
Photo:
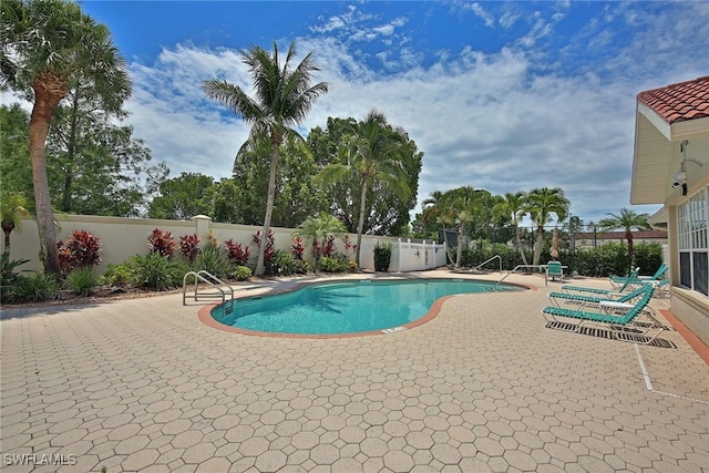
[[[312,73],[319,71],[312,64],[311,54],[306,55],[298,65],[292,68],[291,61],[296,55],[295,42],[290,43],[282,65],[276,42],[274,42],[273,53],[260,47],[253,47],[242,52],[243,61],[251,73],[255,97],[250,97],[238,85],[224,80],[212,79],[203,83],[203,90],[208,97],[228,106],[237,116],[251,125],[249,137],[239,153],[258,143],[259,137],[268,136],[270,141],[268,196],[255,270],[257,276],[264,274],[266,236],[270,228],[276,196],[278,148],[286,135],[300,136],[294,126],[302,123],[315,101],[328,91],[326,82],[311,85]]]

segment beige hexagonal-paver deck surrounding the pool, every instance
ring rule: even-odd
[[[559,282],[506,281],[532,290],[451,297],[424,325],[357,338],[217,330],[197,317],[207,302],[182,294],[3,310],[0,469],[709,471],[706,346],[675,330],[665,348],[547,329]]]

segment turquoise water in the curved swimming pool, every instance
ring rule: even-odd
[[[462,279],[341,281],[306,286],[292,292],[234,301],[219,323],[277,333],[337,335],[401,327],[423,317],[443,296],[520,289],[512,285]]]

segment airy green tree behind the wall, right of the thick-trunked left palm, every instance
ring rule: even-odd
[[[167,178],[165,163],[151,165],[151,151],[116,125],[85,86],[71,88],[52,120],[47,143],[48,175],[61,212],[137,216]],[[119,117],[123,112],[116,113]]]

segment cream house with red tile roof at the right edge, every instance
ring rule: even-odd
[[[709,345],[709,76],[637,96],[630,204],[662,204],[670,306]]]

